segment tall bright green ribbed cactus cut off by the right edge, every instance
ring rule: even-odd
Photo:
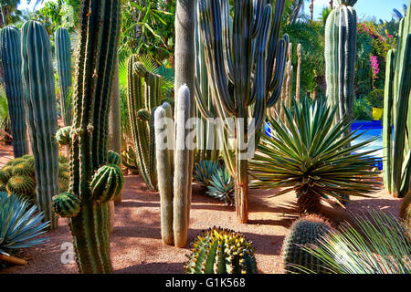
[[[388,52],[385,71],[384,184],[395,197],[404,197],[411,189],[410,99],[411,9],[408,9],[400,21],[397,47]]]

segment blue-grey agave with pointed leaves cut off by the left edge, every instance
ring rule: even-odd
[[[47,238],[37,238],[47,232],[49,222],[42,223],[43,213],[15,194],[0,193],[0,254],[6,249],[41,245]]]

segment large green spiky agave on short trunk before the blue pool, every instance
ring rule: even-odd
[[[276,196],[295,191],[300,214],[319,214],[321,199],[346,202],[349,196],[366,197],[378,190],[370,180],[378,173],[371,171],[374,151],[357,152],[374,139],[352,144],[362,134],[353,131],[344,137],[351,121],[345,117],[333,124],[337,109],[323,100],[311,106],[308,99],[294,99],[292,104],[295,112],[283,106],[284,122],[269,120],[272,137],[262,137],[249,165],[253,185],[284,188]]]

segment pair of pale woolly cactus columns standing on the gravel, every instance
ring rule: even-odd
[[[162,238],[164,245],[174,243],[177,247],[186,244],[190,218],[190,196],[187,193],[187,184],[191,183],[190,153],[185,146],[190,99],[190,90],[183,85],[178,90],[174,122],[170,123],[173,111],[169,103],[164,102],[154,112]]]

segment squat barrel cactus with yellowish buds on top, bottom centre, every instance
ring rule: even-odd
[[[244,235],[213,227],[192,245],[184,265],[186,274],[257,274],[254,247]]]

